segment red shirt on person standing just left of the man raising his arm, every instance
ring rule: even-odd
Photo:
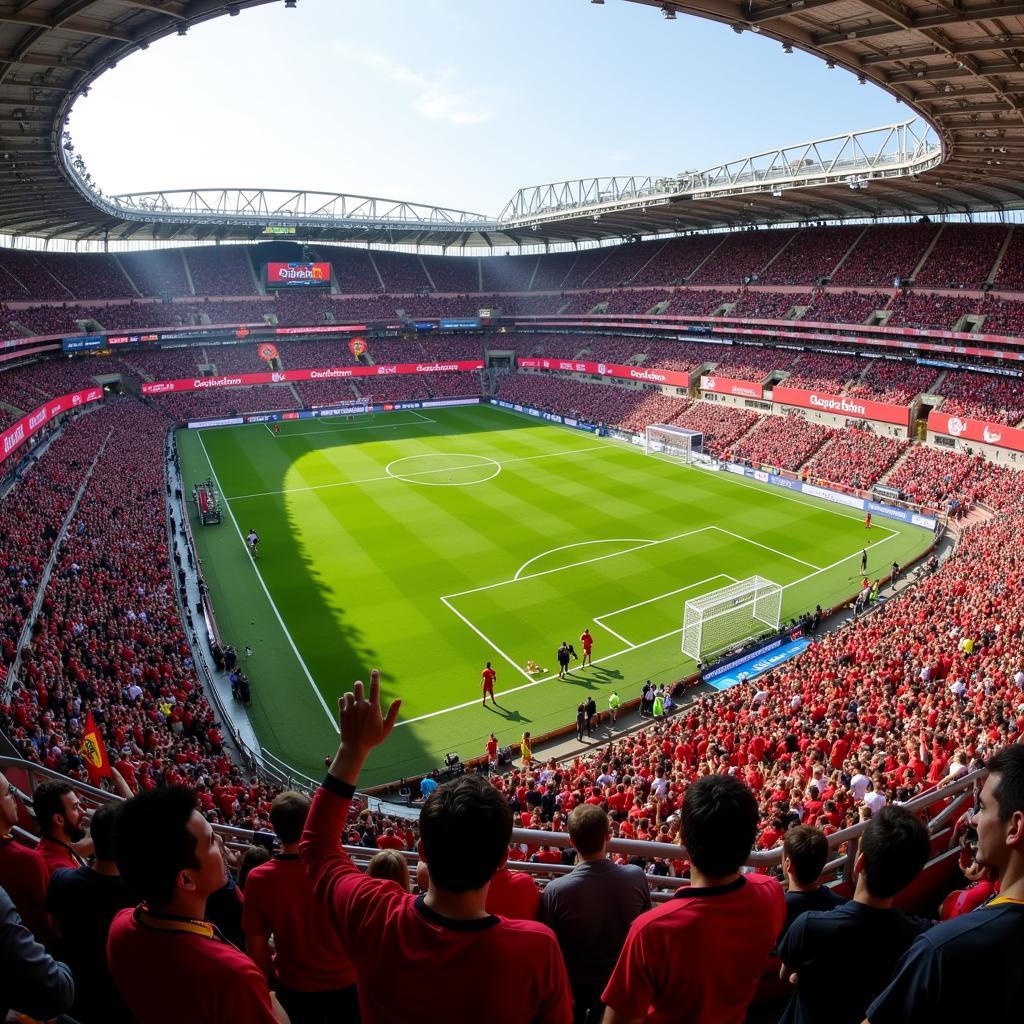
[[[287,988],[325,992],[355,984],[355,968],[297,853],[254,867],[242,910],[246,935],[273,933],[273,971]]]

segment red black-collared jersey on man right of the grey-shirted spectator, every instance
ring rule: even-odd
[[[763,874],[679,889],[633,922],[601,1001],[651,1024],[741,1024],[784,922]]]

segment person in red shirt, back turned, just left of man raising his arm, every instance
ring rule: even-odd
[[[282,793],[270,805],[281,852],[249,872],[246,949],[268,979],[276,979],[292,1024],[350,1024],[359,1019],[355,968],[299,859],[308,813],[309,798],[301,793]]]

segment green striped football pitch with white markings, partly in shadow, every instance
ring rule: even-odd
[[[213,475],[227,515],[194,531],[226,642],[253,683],[261,743],[318,778],[338,696],[380,667],[399,724],[372,785],[451,751],[515,745],[573,722],[591,694],[636,696],[693,671],[683,604],[759,574],[788,620],[908,562],[929,535],[729,473],[487,406],[180,430],[184,479]],[[193,510],[195,516],[195,510]],[[254,562],[244,535],[260,535]],[[555,650],[594,635],[594,665]],[[480,706],[480,670],[498,707]],[[526,672],[532,660],[541,672]]]

